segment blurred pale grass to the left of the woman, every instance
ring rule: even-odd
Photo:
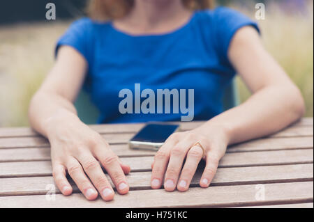
[[[0,29],[0,125],[27,126],[33,93],[53,65],[54,45],[68,22]]]

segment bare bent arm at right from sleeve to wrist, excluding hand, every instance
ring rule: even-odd
[[[253,92],[246,102],[206,124],[224,127],[229,144],[272,134],[304,115],[299,89],[264,50],[255,29],[241,29],[231,42],[228,56]]]

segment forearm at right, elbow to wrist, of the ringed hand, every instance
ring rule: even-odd
[[[304,101],[296,87],[267,86],[244,104],[212,118],[204,127],[223,128],[228,144],[232,144],[277,132],[303,115]]]

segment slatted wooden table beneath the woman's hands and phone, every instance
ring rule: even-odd
[[[183,123],[181,129],[201,123]],[[89,202],[77,187],[68,197],[58,189],[46,195],[54,188],[47,140],[29,128],[0,128],[0,207],[313,207],[313,118],[267,138],[232,145],[211,187],[198,186],[198,172],[185,193],[150,189],[154,152],[129,150],[127,144],[142,126],[91,126],[132,168],[130,193],[117,194],[109,203],[100,198]]]

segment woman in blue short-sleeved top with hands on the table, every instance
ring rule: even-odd
[[[194,89],[194,120],[207,120],[172,134],[156,153],[151,187],[186,191],[202,158],[200,187],[209,187],[227,145],[277,132],[304,114],[298,88],[265,51],[258,27],[211,1],[91,1],[91,18],[80,19],[57,43],[57,60],[33,96],[29,120],[51,143],[54,180],[72,193],[66,172],[88,200],[128,193],[123,164],[110,145],[77,117],[73,101],[84,83],[98,106],[99,122],[180,120],[180,113],[119,113],[119,90]],[[221,96],[235,72],[253,95],[222,112]],[[175,108],[175,107],[173,107]],[[184,163],[184,159],[186,159]],[[100,164],[98,164],[98,161]],[[184,164],[184,166],[183,166]]]

